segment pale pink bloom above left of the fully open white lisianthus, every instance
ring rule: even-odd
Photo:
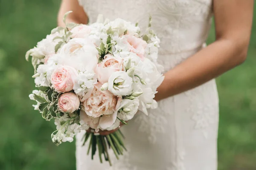
[[[98,80],[102,84],[108,82],[109,77],[113,72],[122,71],[122,58],[113,57],[111,54],[107,54],[104,57],[105,59],[99,63],[95,69],[96,74],[98,75]]]

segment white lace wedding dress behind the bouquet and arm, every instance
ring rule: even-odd
[[[89,17],[117,17],[143,29],[152,16],[160,38],[159,63],[169,71],[204,47],[212,0],[80,0]],[[137,113],[121,128],[128,152],[113,166],[92,161],[77,135],[77,170],[217,170],[218,93],[215,80],[158,102],[149,116]]]

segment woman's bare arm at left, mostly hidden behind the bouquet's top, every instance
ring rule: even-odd
[[[58,13],[58,26],[64,26],[62,20],[67,11],[73,11],[67,16],[67,23],[88,23],[88,17],[84,12],[83,7],[79,5],[78,0],[62,0]]]

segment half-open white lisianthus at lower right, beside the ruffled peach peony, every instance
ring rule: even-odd
[[[139,99],[123,99],[122,102],[120,103],[120,107],[117,109],[117,117],[124,120],[128,121],[131,120],[134,115],[137,113],[139,108]]]

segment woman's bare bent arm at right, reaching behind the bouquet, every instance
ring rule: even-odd
[[[168,71],[156,100],[202,85],[246,59],[253,0],[213,0],[213,10],[216,41]]]

